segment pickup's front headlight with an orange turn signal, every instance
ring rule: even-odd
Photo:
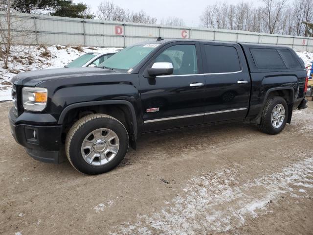
[[[48,91],[42,87],[23,87],[22,102],[25,110],[43,111],[47,105]]]

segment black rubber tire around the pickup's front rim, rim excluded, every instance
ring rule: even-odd
[[[114,158],[103,165],[92,165],[85,161],[82,156],[81,147],[84,139],[90,132],[108,128],[116,133],[119,139],[119,149]],[[115,168],[125,157],[129,145],[129,137],[124,125],[109,115],[92,114],[79,119],[68,131],[65,150],[67,159],[72,166],[84,174],[101,174]]]

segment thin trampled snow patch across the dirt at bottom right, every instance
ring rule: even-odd
[[[280,195],[297,196],[292,193],[292,187],[313,187],[312,170],[313,157],[308,154],[304,160],[246,184],[239,184],[236,179],[239,165],[203,173],[190,179],[189,185],[171,204],[152,215],[138,216],[138,221],[130,226],[118,227],[117,234],[195,235],[199,230],[206,233],[226,232],[244,225],[249,216],[267,213],[267,205]]]

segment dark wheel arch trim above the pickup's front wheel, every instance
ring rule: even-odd
[[[67,113],[75,108],[79,107],[85,107],[85,106],[98,106],[98,105],[109,105],[109,104],[123,104],[126,105],[132,115],[133,125],[134,125],[134,137],[137,139],[138,136],[138,126],[137,126],[137,119],[136,119],[136,113],[134,110],[134,106],[131,102],[127,100],[99,100],[99,101],[88,101],[88,102],[80,102],[80,103],[74,103],[70,104],[67,107],[65,107],[59,117],[58,124],[63,124],[63,121],[67,115]]]

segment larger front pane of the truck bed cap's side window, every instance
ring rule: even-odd
[[[276,49],[251,48],[250,51],[258,69],[286,69],[286,65]]]

